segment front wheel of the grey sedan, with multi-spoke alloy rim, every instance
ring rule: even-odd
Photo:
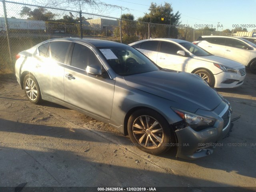
[[[128,134],[136,147],[154,155],[166,152],[175,141],[168,122],[151,109],[140,109],[130,116]]]

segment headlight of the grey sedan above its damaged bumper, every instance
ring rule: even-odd
[[[209,126],[212,126],[215,123],[215,119],[209,118],[209,117],[204,117],[201,115],[197,115],[191,112],[187,112],[184,110],[180,110],[177,108],[172,108],[176,114],[180,116],[186,122],[188,126],[191,128],[207,128]],[[200,130],[201,130],[200,129]],[[198,129],[197,129],[198,130]]]

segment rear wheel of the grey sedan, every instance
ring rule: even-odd
[[[23,87],[28,100],[34,104],[39,104],[42,101],[40,88],[34,76],[27,74],[23,81]]]

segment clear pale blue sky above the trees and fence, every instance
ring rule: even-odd
[[[115,4],[129,8],[123,13],[131,13],[135,20],[149,13],[151,2],[164,5],[172,4],[174,13],[181,13],[181,24],[188,24],[193,28],[210,25],[218,30],[233,29],[235,26],[246,25],[248,31],[256,29],[256,0],[102,0],[108,4]],[[109,16],[120,17],[121,9],[113,10]],[[252,27],[248,25],[251,24]],[[253,27],[254,25],[254,27]],[[243,27],[242,27],[243,28]]]

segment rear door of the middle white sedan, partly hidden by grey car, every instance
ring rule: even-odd
[[[145,41],[142,42],[140,48],[137,48],[140,52],[150,58],[154,63],[157,61],[157,50],[159,41]]]

